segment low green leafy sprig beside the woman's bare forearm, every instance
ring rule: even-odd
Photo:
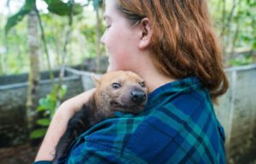
[[[49,122],[55,114],[55,110],[60,104],[59,99],[62,99],[67,93],[67,87],[62,85],[61,88],[55,86],[55,88],[45,96],[45,98],[39,99],[39,105],[37,111],[43,113],[43,118],[37,120],[37,124],[40,128],[35,129],[30,134],[31,139],[38,139],[44,137]]]

